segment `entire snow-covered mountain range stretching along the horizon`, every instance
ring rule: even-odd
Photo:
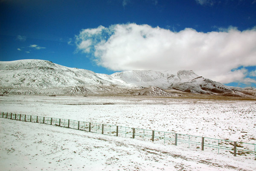
[[[177,73],[125,71],[107,75],[69,68],[46,60],[0,62],[0,94],[172,96],[164,91],[170,88],[200,94],[228,94],[235,91],[250,94],[247,89],[216,83],[187,70]]]

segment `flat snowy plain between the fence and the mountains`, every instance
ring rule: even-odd
[[[256,144],[256,101],[8,96],[3,112],[104,123]]]

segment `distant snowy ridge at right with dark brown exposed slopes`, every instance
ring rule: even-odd
[[[171,71],[125,71],[111,74],[111,76],[131,85],[141,87],[155,86],[163,89],[173,88],[189,93],[222,95],[245,90],[244,88],[230,87],[217,83],[188,70],[180,70],[177,74]],[[247,90],[247,94],[241,93],[241,97],[253,95],[253,93],[249,92],[251,90]]]

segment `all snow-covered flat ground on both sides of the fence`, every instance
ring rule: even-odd
[[[256,101],[3,96],[0,111],[256,144]],[[217,151],[3,118],[0,123],[3,170],[256,170],[256,160]]]

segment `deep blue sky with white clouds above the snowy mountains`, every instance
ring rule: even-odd
[[[256,0],[0,0],[0,61],[256,87]]]

